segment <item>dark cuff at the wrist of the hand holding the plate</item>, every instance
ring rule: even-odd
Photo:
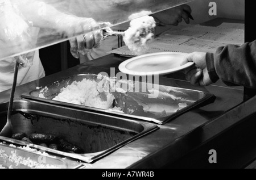
[[[205,60],[206,60],[207,70],[208,70],[210,80],[212,82],[218,81],[219,77],[218,77],[218,74],[216,73],[216,69],[215,69],[215,66],[214,66],[214,54],[213,53],[207,53],[206,57],[205,57]]]

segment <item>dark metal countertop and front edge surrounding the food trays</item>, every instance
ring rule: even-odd
[[[79,65],[26,85],[18,86],[15,99],[19,100],[20,95],[24,92],[34,90],[36,87],[44,87],[53,81],[73,74],[97,74],[100,72],[110,74],[110,67],[117,70],[118,64],[123,60],[125,60],[123,57],[108,55],[88,64]],[[254,113],[253,110],[250,111],[249,108],[245,107],[250,103],[238,106],[243,101],[241,87],[227,87],[220,85],[220,82],[217,82],[217,85],[206,88],[195,87],[184,81],[181,73],[172,74],[172,76],[172,78],[160,77],[159,83],[209,91],[209,93],[216,96],[215,101],[205,104],[205,106],[203,104],[203,107],[196,107],[164,125],[158,125],[159,129],[157,131],[122,146],[92,164],[86,164],[86,168],[163,168],[179,160],[189,151],[200,146],[205,141],[209,141],[214,136],[225,131],[225,129],[239,123],[247,115]],[[177,77],[176,79],[175,76]],[[0,102],[6,102],[8,98],[9,91],[0,94]],[[233,109],[234,107],[236,108]],[[229,114],[232,116],[229,116]]]

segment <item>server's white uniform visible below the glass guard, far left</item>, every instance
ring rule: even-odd
[[[34,28],[32,31],[32,36],[37,36],[38,33],[39,28]],[[44,68],[39,58],[39,51],[28,53],[26,56],[29,60],[32,60],[33,65],[27,68],[22,68],[22,66],[19,66],[17,86],[45,76]],[[6,60],[0,60],[0,91],[11,89],[11,86],[13,85],[13,77],[13,59],[9,58]]]

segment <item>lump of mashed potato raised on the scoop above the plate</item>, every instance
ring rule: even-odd
[[[146,53],[147,43],[154,39],[155,19],[152,16],[142,16],[130,22],[130,28],[125,31],[123,41],[136,55]]]

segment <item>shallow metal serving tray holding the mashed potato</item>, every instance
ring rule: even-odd
[[[158,97],[152,98],[152,94],[149,93],[149,90],[154,90],[154,85],[133,81],[134,86],[135,84],[138,85],[139,83],[139,90],[127,91],[125,94],[117,91],[112,93],[117,101],[116,106],[120,107],[122,112],[52,100],[61,92],[61,89],[71,85],[71,83],[74,81],[82,81],[84,78],[92,81],[98,81],[97,74],[77,74],[75,76],[53,82],[47,85],[47,88],[40,87],[39,89],[23,93],[22,98],[58,104],[65,107],[74,107],[83,110],[102,112],[105,114],[146,120],[158,124],[164,124],[169,120],[183,114],[184,112],[191,110],[193,107],[203,106],[204,103],[211,103],[215,98],[213,94],[205,91],[163,85],[158,86]],[[119,82],[119,80],[117,79],[116,82]],[[142,86],[146,86],[146,91],[144,91],[144,89],[142,91]],[[40,98],[39,94],[43,95],[44,98]],[[174,97],[176,99],[174,99]],[[180,107],[180,104],[183,104],[183,107]]]

